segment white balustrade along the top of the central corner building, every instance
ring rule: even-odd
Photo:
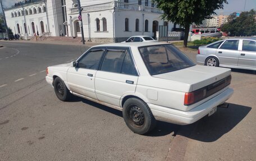
[[[101,3],[101,4],[94,4],[90,6],[83,6],[82,12],[89,12],[89,11],[97,11],[97,10],[106,10],[111,8],[118,8],[120,10],[132,10],[132,11],[144,11],[144,12],[152,12],[152,13],[163,13],[162,10],[159,10],[158,8],[154,7],[148,7],[148,6],[141,6],[138,4],[130,4],[130,3],[124,3],[124,2],[117,2],[112,1],[108,3]],[[79,10],[77,7],[71,8],[70,13],[78,13]]]

